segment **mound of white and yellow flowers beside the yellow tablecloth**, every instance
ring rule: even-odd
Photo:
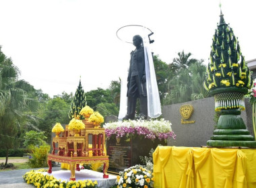
[[[119,172],[117,176],[117,188],[123,187],[153,187],[154,177],[153,173],[144,169],[141,165],[135,165],[125,171]]]

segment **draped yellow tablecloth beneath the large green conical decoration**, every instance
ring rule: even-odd
[[[158,146],[153,160],[154,187],[256,187],[256,149]]]

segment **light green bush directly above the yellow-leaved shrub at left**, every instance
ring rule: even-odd
[[[46,136],[44,136],[44,132],[36,132],[34,130],[30,130],[30,132],[26,132],[26,136],[24,136],[24,146],[28,148],[30,145],[40,146],[46,144],[44,140],[46,140]]]

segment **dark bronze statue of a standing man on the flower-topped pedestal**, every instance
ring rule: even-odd
[[[145,57],[144,49],[141,45],[142,42],[143,40],[141,36],[133,36],[133,45],[136,47],[136,49],[131,52],[129,75],[127,79],[127,114],[123,120],[134,120],[137,98],[140,100],[139,118],[143,120],[148,118]]]

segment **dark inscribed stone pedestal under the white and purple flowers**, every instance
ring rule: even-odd
[[[109,156],[108,171],[119,173],[124,169],[141,164],[139,156],[149,156],[150,150],[156,149],[161,144],[166,146],[164,140],[155,139],[154,142],[147,138],[110,138],[107,141],[107,155]]]

